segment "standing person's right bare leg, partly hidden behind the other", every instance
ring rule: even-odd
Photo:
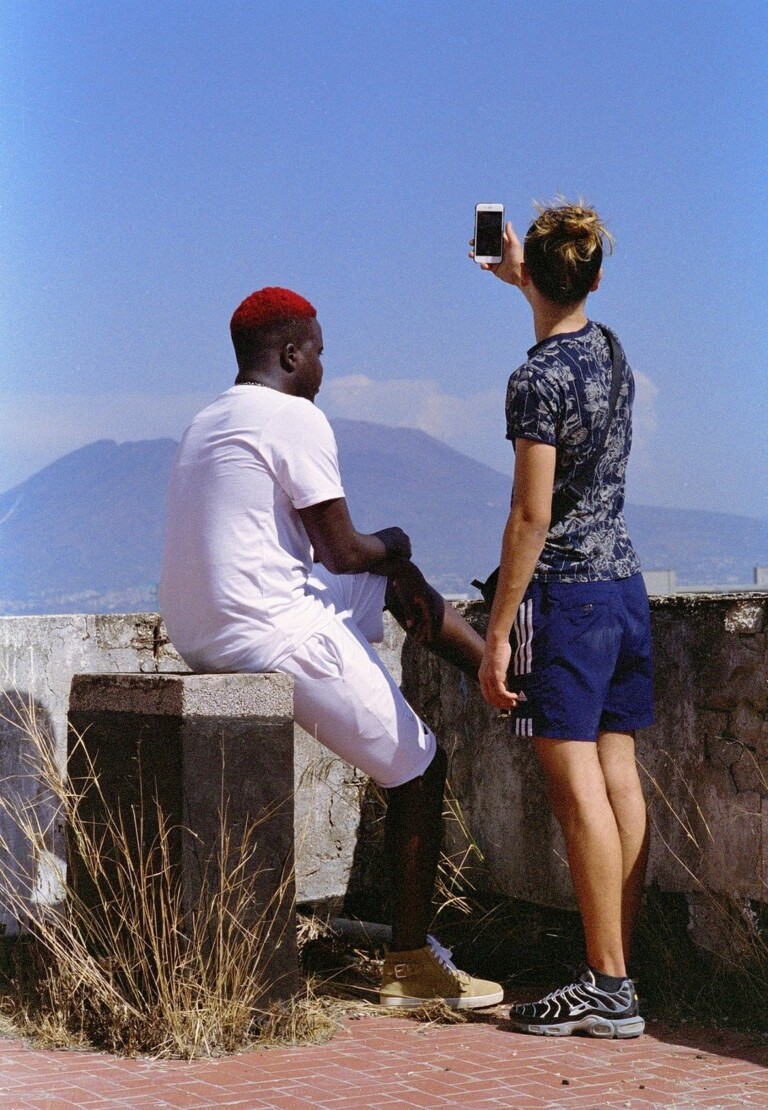
[[[634,737],[628,733],[600,733],[597,757],[622,842],[622,939],[624,958],[628,960],[648,864],[648,819]]]

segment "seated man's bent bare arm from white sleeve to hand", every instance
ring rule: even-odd
[[[370,571],[386,575],[392,558],[410,558],[411,541],[402,528],[357,532],[345,497],[322,501],[299,509],[314,548],[315,559],[332,574]]]

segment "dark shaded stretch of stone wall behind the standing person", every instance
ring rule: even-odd
[[[465,607],[482,630],[484,606]],[[638,735],[651,818],[648,882],[685,894],[694,939],[728,944],[734,914],[768,902],[768,595],[651,603],[657,723]],[[451,780],[485,879],[573,907],[565,849],[530,746],[474,683],[406,645],[404,688],[451,756]],[[466,839],[452,823],[453,848]]]

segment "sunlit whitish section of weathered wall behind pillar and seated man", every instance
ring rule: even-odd
[[[387,614],[385,639],[377,649],[398,682],[402,642],[398,626]],[[37,860],[30,858],[24,837],[2,813],[0,838],[7,841],[8,855],[29,874],[33,900],[58,895],[64,835],[30,768],[29,740],[14,707],[32,707],[63,768],[72,675],[179,670],[185,670],[184,664],[156,614],[0,617],[0,689],[6,695],[0,706],[0,788],[13,791],[19,804],[36,805],[41,823],[50,826],[47,855]],[[300,901],[341,899],[355,851],[365,779],[300,728],[295,741],[296,895]],[[1,906],[0,922],[14,925]]]

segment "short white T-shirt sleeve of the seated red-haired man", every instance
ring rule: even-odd
[[[311,401],[292,398],[275,413],[260,452],[294,508],[344,496],[333,428]]]

